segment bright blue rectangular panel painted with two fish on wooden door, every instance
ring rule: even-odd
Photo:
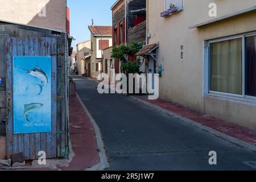
[[[13,57],[14,134],[51,132],[51,57]]]

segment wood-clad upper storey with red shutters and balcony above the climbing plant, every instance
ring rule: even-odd
[[[146,0],[117,0],[111,7],[113,46],[121,44],[146,43]],[[134,61],[135,56],[129,56]],[[114,59],[115,73],[121,70],[121,63]]]

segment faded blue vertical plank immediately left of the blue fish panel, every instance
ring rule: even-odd
[[[7,99],[7,122],[6,122],[6,140],[7,140],[7,158],[10,159],[13,154],[13,60],[11,50],[13,48],[13,38],[6,39],[6,99]]]

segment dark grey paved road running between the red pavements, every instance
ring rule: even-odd
[[[73,76],[77,93],[100,127],[110,170],[255,170],[256,153],[119,94],[98,94],[98,82]],[[217,165],[208,163],[217,152]]]

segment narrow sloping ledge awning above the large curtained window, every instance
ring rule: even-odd
[[[256,6],[250,7],[248,9],[245,9],[245,10],[242,10],[242,11],[237,11],[237,12],[232,13],[232,14],[220,16],[219,18],[208,20],[207,22],[199,23],[199,24],[196,24],[196,25],[191,26],[189,28],[191,29],[191,28],[202,27],[202,26],[205,26],[205,25],[210,24],[210,23],[215,23],[215,22],[218,22],[218,21],[221,21],[221,20],[224,20],[224,19],[232,18],[234,16],[242,15],[242,14],[245,14],[245,13],[250,13],[251,11],[254,11],[254,10],[256,10]]]

